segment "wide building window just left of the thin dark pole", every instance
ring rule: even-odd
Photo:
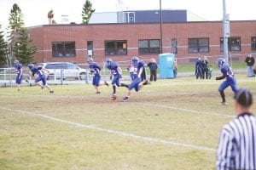
[[[139,40],[139,54],[160,54],[160,40]]]

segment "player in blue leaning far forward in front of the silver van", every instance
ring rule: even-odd
[[[40,86],[42,88],[42,91],[44,91],[44,87],[49,89],[49,93],[53,94],[54,91],[52,90],[52,88],[49,87],[49,85],[46,83],[46,77],[44,74],[44,71],[47,71],[46,69],[42,68],[42,67],[36,67],[33,64],[29,64],[28,65],[29,70],[32,72],[32,74],[30,74],[32,77],[36,77],[35,78],[35,82],[38,84],[38,86]],[[49,72],[49,71],[47,71]],[[35,76],[37,75],[37,76]],[[43,85],[40,83],[42,82]]]

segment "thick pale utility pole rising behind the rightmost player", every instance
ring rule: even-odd
[[[223,54],[226,63],[229,62],[228,40],[230,37],[230,14],[226,14],[226,1],[223,0]]]

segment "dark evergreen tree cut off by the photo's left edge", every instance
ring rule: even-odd
[[[1,29],[1,26],[0,26]],[[0,31],[0,67],[4,67],[7,62],[8,45],[4,41],[3,31]]]

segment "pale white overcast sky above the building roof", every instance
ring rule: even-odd
[[[187,9],[206,20],[222,20],[223,0],[161,0],[162,8]],[[24,15],[26,26],[48,24],[47,13],[54,10],[57,23],[61,15],[68,15],[70,22],[81,23],[85,0],[0,0],[0,25],[8,26],[9,13],[17,3]],[[118,0],[90,0],[96,12],[118,11]],[[159,0],[122,0],[122,9],[158,9]],[[230,20],[256,20],[256,0],[226,0]]]

